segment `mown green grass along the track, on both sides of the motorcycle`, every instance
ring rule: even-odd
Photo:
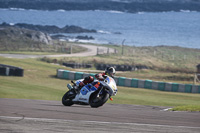
[[[0,76],[0,98],[60,101],[67,91],[66,84],[70,81],[55,77],[58,68],[67,69],[66,67],[41,62],[39,59],[0,57],[0,62],[24,69],[24,77]],[[114,101],[109,101],[109,103],[170,107],[192,105],[194,108],[200,106],[200,94],[129,87],[119,87],[118,89],[118,94],[113,97]]]

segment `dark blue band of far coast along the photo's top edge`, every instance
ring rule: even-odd
[[[57,6],[55,6],[55,4]],[[70,1],[70,0],[57,0],[57,1],[37,1],[32,0],[0,0],[0,8],[20,8],[20,9],[34,9],[34,10],[116,10],[119,12],[162,12],[162,11],[180,11],[191,10],[200,11],[200,2],[193,0],[126,0],[126,1],[113,1],[113,0],[87,0],[87,1]]]

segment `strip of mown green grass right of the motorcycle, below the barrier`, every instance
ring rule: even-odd
[[[182,106],[200,105],[200,94],[174,93],[141,88],[118,87],[119,91],[113,103]]]

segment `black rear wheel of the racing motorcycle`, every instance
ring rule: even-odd
[[[62,104],[64,106],[72,106],[74,103],[72,101],[72,99],[75,97],[75,94],[73,91],[68,91],[64,94],[64,96],[62,97]]]

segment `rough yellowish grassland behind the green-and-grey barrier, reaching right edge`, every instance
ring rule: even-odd
[[[104,45],[105,46],[105,45]],[[184,84],[194,83],[194,72],[199,64],[200,49],[181,48],[174,46],[135,47],[106,45],[118,50],[116,54],[98,55],[87,57],[62,57],[56,58],[58,62],[76,62],[88,64],[121,64],[145,65],[149,70],[117,73],[117,76],[150,79],[162,82],[176,82]],[[52,58],[48,61],[54,61]],[[93,67],[92,69],[95,69]]]

